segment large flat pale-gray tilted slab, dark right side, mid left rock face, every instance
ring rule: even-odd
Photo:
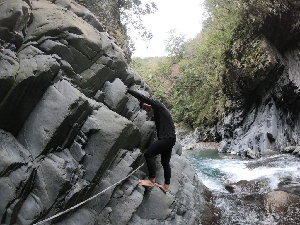
[[[65,80],[51,85],[26,120],[17,139],[33,158],[61,146],[74,123],[80,124],[93,110],[80,91]]]

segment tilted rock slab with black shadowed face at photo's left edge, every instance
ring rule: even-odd
[[[16,136],[60,69],[55,57],[28,46],[20,51],[19,71],[0,104],[0,128]],[[21,114],[19,112],[22,112]]]

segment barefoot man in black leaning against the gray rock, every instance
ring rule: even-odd
[[[140,100],[140,107],[146,112],[154,110],[154,120],[157,129],[158,140],[150,146],[144,156],[146,158],[149,171],[149,180],[140,180],[140,184],[147,187],[161,188],[168,192],[171,179],[170,159],[172,148],[176,142],[175,126],[170,111],[160,101],[148,98],[137,91],[127,89],[128,93]],[[161,154],[161,164],[164,168],[164,184],[155,183],[155,160],[154,156]]]

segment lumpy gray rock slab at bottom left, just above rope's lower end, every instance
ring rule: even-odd
[[[47,155],[36,170],[32,194],[20,208],[19,217],[22,220],[32,221],[45,214],[56,199],[74,184],[73,176],[76,167],[77,162],[73,160],[69,151]],[[32,202],[32,198],[39,201]]]

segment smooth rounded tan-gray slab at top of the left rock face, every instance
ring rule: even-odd
[[[103,52],[102,42],[100,32],[94,27],[73,12],[49,1],[33,1],[32,6],[35,17],[24,43],[36,41],[45,52],[55,53],[66,60],[78,74],[91,65],[90,60],[100,58]],[[57,17],[61,23],[57,23]],[[47,18],[46,24],[42,18]],[[53,37],[64,39],[69,46],[49,40]]]

